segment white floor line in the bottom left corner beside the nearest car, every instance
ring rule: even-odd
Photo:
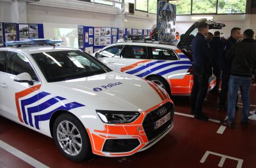
[[[18,149],[15,149],[13,146],[3,142],[3,140],[0,140],[0,147],[7,151],[8,153],[11,153],[15,157],[18,157],[25,161],[26,163],[32,165],[33,167],[42,167],[46,168],[48,166],[40,163],[39,161],[36,161],[36,159],[26,155],[25,153],[22,153],[22,151],[19,151]]]

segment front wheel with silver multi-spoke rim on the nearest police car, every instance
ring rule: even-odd
[[[92,147],[83,124],[71,114],[61,114],[53,124],[55,144],[71,161],[90,159]]]

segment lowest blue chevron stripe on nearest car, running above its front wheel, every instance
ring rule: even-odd
[[[53,112],[56,112],[57,110],[71,110],[71,109],[79,108],[79,107],[83,107],[83,106],[84,106],[83,104],[77,103],[77,102],[66,103],[64,106],[60,106],[59,108],[56,108],[55,110],[52,110],[49,113],[34,116],[35,126],[39,130],[39,122],[50,120]]]

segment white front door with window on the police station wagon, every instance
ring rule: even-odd
[[[110,46],[100,52],[97,52],[96,57],[110,69],[115,70],[123,47],[123,45]]]

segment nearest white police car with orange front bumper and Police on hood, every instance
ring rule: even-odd
[[[174,105],[164,89],[54,43],[0,48],[1,116],[53,137],[73,161],[133,155],[172,129]]]

